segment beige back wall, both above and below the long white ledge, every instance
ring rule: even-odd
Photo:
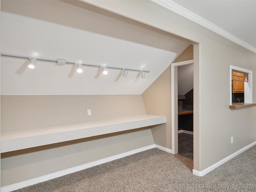
[[[145,114],[140,95],[1,96],[1,128],[36,128]],[[87,115],[92,110],[92,116]],[[2,153],[1,184],[14,184],[154,144],[150,128]]]

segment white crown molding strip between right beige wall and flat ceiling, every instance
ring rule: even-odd
[[[212,24],[211,22],[209,22],[209,21],[205,20],[204,18],[194,14],[193,12],[183,8],[182,6],[176,4],[175,2],[173,2],[171,0],[152,0],[152,1],[181,15],[181,16],[184,16],[185,18],[188,18],[189,20],[192,20],[192,21],[196,22],[197,24],[200,24],[200,25],[216,32],[217,34],[231,40],[232,42],[235,42],[236,44],[239,44],[240,46],[243,46],[244,48],[256,53],[256,48],[254,46],[242,41],[241,39],[235,37],[234,35],[226,32],[222,28]]]

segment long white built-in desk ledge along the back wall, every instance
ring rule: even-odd
[[[166,117],[136,115],[1,131],[1,153],[166,123]]]

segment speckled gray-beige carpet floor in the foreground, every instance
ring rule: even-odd
[[[191,159],[157,148],[15,192],[256,192],[256,145],[205,176]]]

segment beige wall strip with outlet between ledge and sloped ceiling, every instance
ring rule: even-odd
[[[140,95],[1,96],[1,129],[145,114]],[[88,116],[87,110],[92,112]]]

